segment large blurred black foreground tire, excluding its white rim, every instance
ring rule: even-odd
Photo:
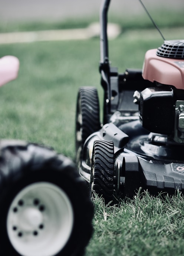
[[[20,256],[9,239],[7,215],[16,195],[39,182],[49,182],[62,189],[73,209],[71,234],[56,255],[82,255],[92,235],[93,205],[75,165],[50,148],[13,140],[0,141],[0,254]]]

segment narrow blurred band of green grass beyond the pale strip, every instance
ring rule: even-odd
[[[165,9],[164,12],[163,10],[148,11],[159,28],[184,26],[184,20],[182,19],[184,10],[182,9],[179,11]],[[111,10],[109,10],[108,20],[109,22],[118,23],[124,31],[127,29],[151,29],[154,27],[145,12],[143,12],[141,15],[130,15],[129,12],[127,15],[117,15],[117,13],[111,13]],[[49,29],[86,28],[90,25],[90,23],[98,21],[98,13],[88,17],[88,19],[82,17],[81,19],[78,18],[77,21],[76,19],[66,19],[55,22],[33,21],[24,23],[7,21],[0,23],[0,33],[16,31],[39,31]]]

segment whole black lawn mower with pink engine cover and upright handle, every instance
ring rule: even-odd
[[[103,122],[98,92],[81,87],[76,108],[76,161],[91,192],[108,203],[184,191],[184,40],[165,41],[146,52],[142,69],[119,74],[108,56],[107,16],[100,12],[104,89]]]

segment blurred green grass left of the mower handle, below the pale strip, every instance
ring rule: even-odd
[[[75,105],[80,86],[99,83],[98,41],[1,45],[20,60],[17,80],[1,88],[1,138],[52,145],[75,157]]]

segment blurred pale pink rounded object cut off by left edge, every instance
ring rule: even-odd
[[[0,86],[16,79],[19,72],[19,60],[14,56],[0,58]]]

